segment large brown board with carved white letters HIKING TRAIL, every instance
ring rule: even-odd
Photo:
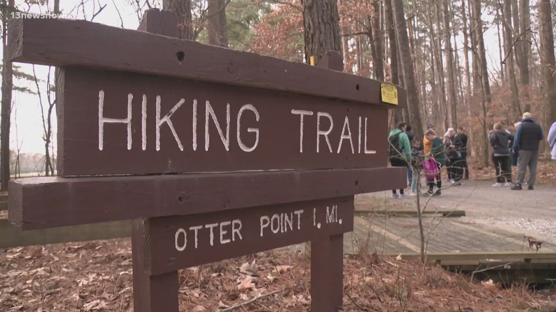
[[[375,135],[388,111],[368,104],[87,68],[62,74],[64,176],[386,166]]]

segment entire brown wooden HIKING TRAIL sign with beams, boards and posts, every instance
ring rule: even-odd
[[[9,24],[9,60],[60,67],[59,177],[13,180],[12,224],[133,219],[137,312],[177,312],[180,269],[311,241],[311,311],[341,309],[354,195],[406,184],[385,143],[404,89],[335,52],[312,67],[172,38],[158,9],[138,31]]]

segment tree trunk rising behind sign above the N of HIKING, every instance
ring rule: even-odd
[[[227,48],[228,25],[226,23],[226,0],[209,0],[207,14],[209,44]]]

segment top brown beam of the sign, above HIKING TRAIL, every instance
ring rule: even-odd
[[[160,34],[59,18],[12,19],[8,32],[6,57],[13,62],[103,68],[407,107],[406,92],[397,86],[399,105],[383,103],[378,80]]]

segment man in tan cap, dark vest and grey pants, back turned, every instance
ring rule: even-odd
[[[525,173],[529,167],[528,189],[532,190],[537,179],[539,143],[544,139],[543,128],[533,120],[530,113],[523,114],[522,123],[515,132],[513,154],[518,155],[518,178],[513,190],[522,189]]]

